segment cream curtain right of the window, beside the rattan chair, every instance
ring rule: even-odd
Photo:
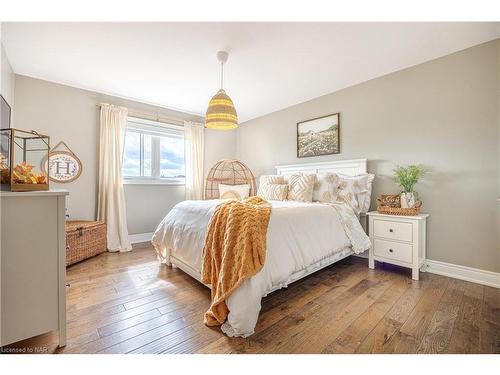
[[[186,165],[186,199],[203,199],[204,127],[184,122],[184,158]]]

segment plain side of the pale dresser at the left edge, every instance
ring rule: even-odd
[[[66,195],[0,192],[0,346],[55,330],[66,345]]]

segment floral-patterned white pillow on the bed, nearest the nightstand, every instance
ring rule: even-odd
[[[338,200],[349,204],[358,215],[368,212],[375,175],[371,173],[358,176],[339,175],[339,178]]]

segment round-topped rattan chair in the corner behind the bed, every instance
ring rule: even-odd
[[[205,199],[219,198],[219,184],[250,185],[250,196],[255,195],[255,177],[252,171],[239,160],[219,160],[208,172],[205,180]]]

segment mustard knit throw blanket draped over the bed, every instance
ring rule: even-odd
[[[208,224],[201,279],[212,285],[207,326],[226,321],[226,298],[243,281],[257,274],[266,260],[266,236],[271,205],[260,197],[218,205]]]

